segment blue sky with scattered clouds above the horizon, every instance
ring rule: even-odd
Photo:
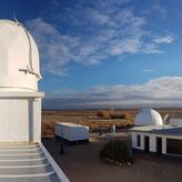
[[[0,0],[40,52],[43,109],[182,107],[182,0]]]

